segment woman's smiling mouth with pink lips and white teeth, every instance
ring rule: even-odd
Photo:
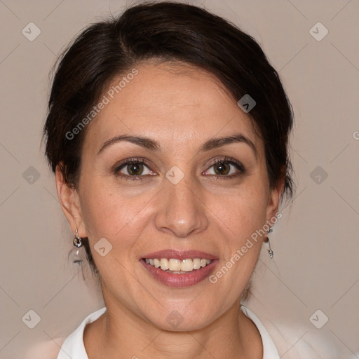
[[[199,251],[165,250],[146,255],[140,262],[163,285],[189,287],[207,278],[218,259]]]

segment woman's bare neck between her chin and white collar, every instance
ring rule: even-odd
[[[257,327],[239,303],[207,327],[182,332],[161,330],[121,304],[107,305],[104,315],[86,326],[83,341],[91,359],[263,358]]]

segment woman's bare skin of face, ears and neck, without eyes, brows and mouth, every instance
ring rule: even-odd
[[[249,115],[211,74],[176,63],[136,68],[139,74],[88,125],[79,190],[56,171],[72,231],[88,237],[91,248],[103,237],[113,246],[104,257],[92,249],[107,313],[86,326],[88,356],[262,358],[259,332],[240,311],[239,299],[264,238],[215,284],[206,278],[190,287],[165,286],[138,257],[168,248],[202,250],[218,257],[217,271],[276,214],[283,181],[269,187],[262,140]],[[199,151],[211,138],[237,133],[255,151],[245,142]],[[97,154],[117,135],[150,137],[161,151],[118,142]],[[211,161],[224,156],[240,161],[245,172],[224,178],[238,172],[229,165],[228,174],[217,179],[218,165]],[[149,161],[142,180],[114,173],[118,163],[133,157]],[[184,173],[178,184],[165,177],[174,165]],[[119,173],[126,176],[127,170]],[[172,311],[183,318],[177,328],[166,320]]]

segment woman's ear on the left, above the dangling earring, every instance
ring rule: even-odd
[[[79,232],[79,237],[87,237],[86,229],[83,223],[83,215],[80,205],[79,193],[76,189],[69,187],[65,183],[64,176],[60,170],[60,165],[55,170],[57,196],[60,200],[62,212],[64,212],[67,221],[71,227],[72,233]]]

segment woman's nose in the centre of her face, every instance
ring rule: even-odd
[[[186,177],[186,176],[185,176]],[[158,231],[172,233],[185,238],[192,233],[200,233],[208,227],[205,213],[205,201],[188,180],[182,179],[177,184],[166,183],[158,194],[158,210],[155,226]]]

